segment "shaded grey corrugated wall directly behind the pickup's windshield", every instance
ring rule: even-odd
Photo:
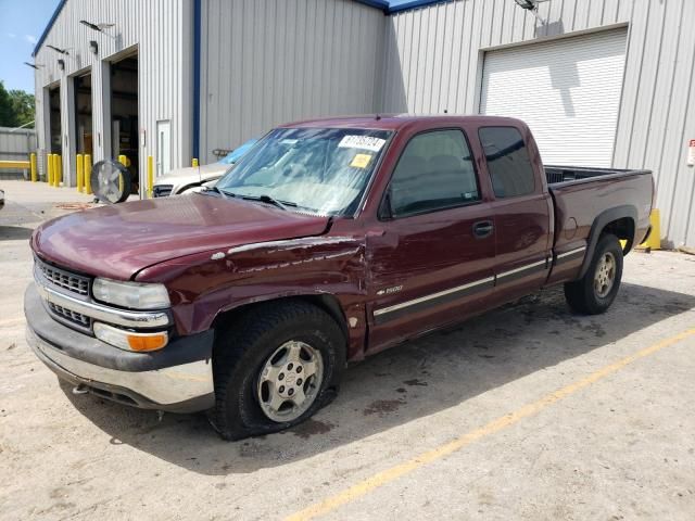
[[[375,110],[383,13],[350,0],[204,0],[201,157],[287,122]]]

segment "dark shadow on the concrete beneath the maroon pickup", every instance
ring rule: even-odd
[[[617,342],[695,307],[695,296],[623,284],[603,316],[572,315],[561,288],[380,353],[345,371],[339,397],[298,428],[223,442],[204,415],[141,411],[64,392],[112,436],[203,474],[249,473],[346,445]],[[533,399],[533,397],[529,397]],[[467,425],[469,428],[476,425]]]

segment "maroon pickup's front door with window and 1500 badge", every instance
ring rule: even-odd
[[[478,307],[493,292],[493,211],[460,128],[405,145],[387,190],[391,213],[368,237],[370,351]]]

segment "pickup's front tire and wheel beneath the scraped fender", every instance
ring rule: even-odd
[[[282,358],[285,354],[291,356],[298,350],[309,361],[301,359],[291,372],[287,369],[291,363],[278,365],[278,360],[289,360]],[[300,381],[303,374],[295,371],[306,367],[306,373],[311,364],[315,372]],[[215,407],[211,423],[225,440],[268,434],[301,423],[336,397],[344,366],[345,338],[328,314],[299,300],[260,305],[219,329],[213,351]],[[278,384],[292,379],[293,387],[288,385],[283,394],[283,410],[270,407],[270,398],[279,396],[281,386],[270,385],[268,371],[276,371],[276,378],[280,378],[277,371],[285,371],[287,376]],[[292,390],[298,394],[289,397]],[[300,394],[306,397],[302,407],[292,402]]]

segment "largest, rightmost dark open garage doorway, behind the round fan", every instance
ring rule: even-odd
[[[131,193],[140,192],[138,147],[138,54],[128,54],[111,63],[111,152],[125,155],[132,180]]]

